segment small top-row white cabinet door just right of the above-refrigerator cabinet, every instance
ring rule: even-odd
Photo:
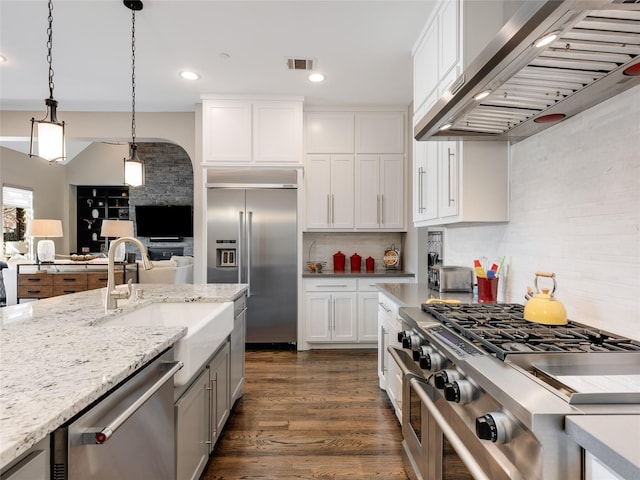
[[[353,153],[353,112],[307,112],[305,147],[307,153]]]

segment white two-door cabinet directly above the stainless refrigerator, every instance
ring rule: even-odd
[[[213,165],[303,162],[302,101],[203,96],[202,155]]]

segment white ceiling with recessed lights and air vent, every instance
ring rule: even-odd
[[[434,4],[145,0],[136,13],[136,111],[191,112],[203,93],[409,105],[411,48]],[[121,0],[55,0],[53,12],[59,118],[65,110],[130,111],[131,11]],[[47,16],[45,0],[0,0],[2,110],[44,112]],[[313,59],[326,80],[288,70],[288,57]],[[183,80],[185,69],[200,79]]]

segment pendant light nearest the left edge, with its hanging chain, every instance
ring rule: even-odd
[[[49,27],[47,28],[47,63],[49,64],[49,98],[45,99],[47,114],[42,120],[31,118],[31,140],[29,156],[40,157],[49,163],[63,162],[67,154],[64,141],[64,122],[56,115],[58,102],[53,98],[53,3],[49,0]],[[34,146],[37,144],[37,152]]]

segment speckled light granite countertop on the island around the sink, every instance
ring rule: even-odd
[[[244,284],[136,285],[105,313],[105,289],[0,309],[0,468],[186,334],[183,327],[99,326],[156,302],[231,302]]]

